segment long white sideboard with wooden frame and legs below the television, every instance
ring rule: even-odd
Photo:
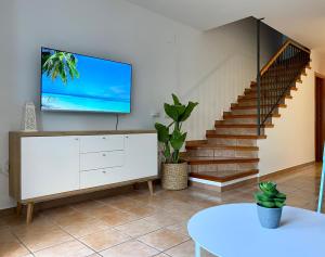
[[[157,178],[155,131],[10,132],[10,194],[35,202]],[[29,214],[29,216],[31,215]]]

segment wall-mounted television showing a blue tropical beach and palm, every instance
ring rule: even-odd
[[[42,48],[41,65],[42,111],[131,112],[131,64]]]

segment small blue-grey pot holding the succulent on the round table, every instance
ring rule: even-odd
[[[265,208],[257,205],[260,223],[265,229],[276,229],[280,227],[283,208]]]

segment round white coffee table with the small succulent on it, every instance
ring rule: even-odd
[[[325,256],[325,215],[285,206],[281,227],[260,226],[256,204],[229,204],[204,209],[187,224],[200,248],[218,257]]]

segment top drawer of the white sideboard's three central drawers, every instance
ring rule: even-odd
[[[93,153],[125,149],[123,134],[80,137],[80,153]]]

